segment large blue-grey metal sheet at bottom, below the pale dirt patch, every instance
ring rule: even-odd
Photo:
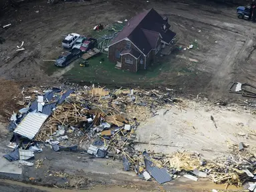
[[[152,162],[148,159],[144,159],[144,161],[146,165],[146,171],[148,171],[158,183],[162,184],[172,180],[172,177],[170,177],[170,174],[166,171],[166,169],[152,167]]]

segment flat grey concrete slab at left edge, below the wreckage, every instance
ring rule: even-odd
[[[3,157],[3,154],[0,153],[0,155],[0,173],[21,175],[22,169],[19,167],[18,161],[9,162]]]

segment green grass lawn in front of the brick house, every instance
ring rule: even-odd
[[[156,65],[156,67],[150,67],[147,70],[140,70],[137,73],[131,73],[115,68],[115,63],[108,61],[107,55],[101,53],[89,61],[89,67],[80,67],[76,64],[73,69],[68,71],[64,78],[73,82],[88,82],[88,83],[100,83],[100,84],[113,84],[113,85],[132,85],[132,84],[149,84],[160,83],[164,79],[159,79],[160,73],[170,68],[168,63],[165,65]],[[101,63],[100,63],[101,62]],[[158,64],[158,63],[156,63]],[[152,80],[152,81],[149,81]]]

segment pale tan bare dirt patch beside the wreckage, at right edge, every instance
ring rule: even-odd
[[[255,109],[201,100],[184,99],[184,107],[173,105],[147,119],[137,131],[136,149],[167,154],[177,150],[197,151],[211,160],[231,153],[231,147],[240,142],[251,146],[251,151],[256,150]]]

